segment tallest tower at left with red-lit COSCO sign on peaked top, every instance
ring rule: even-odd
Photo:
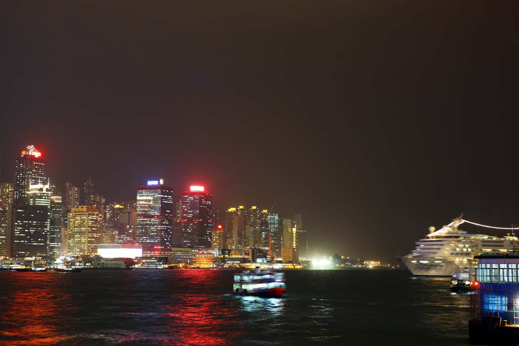
[[[29,187],[40,184],[45,180],[45,162],[42,153],[33,145],[28,145],[16,157],[13,203],[25,204],[26,192],[29,190]]]

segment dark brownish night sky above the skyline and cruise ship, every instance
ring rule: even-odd
[[[312,253],[365,258],[519,225],[516,5],[191,3],[2,2],[1,179],[34,144],[58,186],[275,199]]]

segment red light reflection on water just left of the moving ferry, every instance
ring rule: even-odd
[[[176,276],[183,281],[185,287],[206,288],[204,294],[175,294],[166,312],[171,321],[168,334],[183,345],[226,345],[238,340],[242,335],[242,325],[237,321],[237,311],[229,308],[222,295],[208,295],[211,283],[217,281],[212,270],[178,270]],[[218,278],[221,278],[218,277]],[[210,291],[209,291],[210,292]]]

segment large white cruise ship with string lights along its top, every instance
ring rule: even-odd
[[[467,233],[458,228],[465,222],[489,228],[512,229],[484,226],[461,217],[455,218],[450,224],[428,234],[427,238],[418,240],[413,252],[400,257],[400,260],[413,275],[450,276],[453,272],[468,268],[470,260],[476,255],[519,254],[517,237],[509,233],[503,238]]]

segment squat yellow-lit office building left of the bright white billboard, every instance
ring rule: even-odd
[[[103,216],[99,210],[88,205],[72,208],[67,227],[67,254],[97,255],[102,232]]]

